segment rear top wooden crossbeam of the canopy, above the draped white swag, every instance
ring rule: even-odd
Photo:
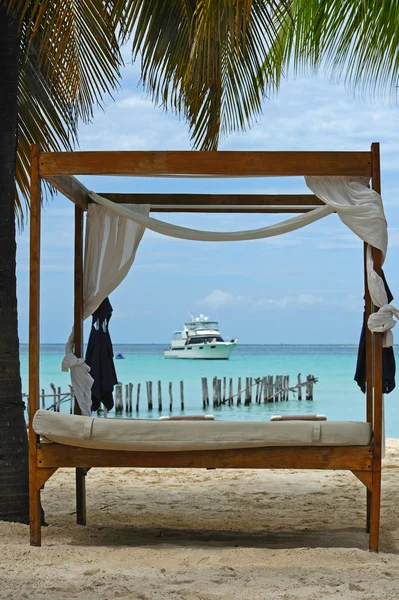
[[[116,204],[150,204],[153,212],[309,212],[324,203],[313,194],[113,194]]]

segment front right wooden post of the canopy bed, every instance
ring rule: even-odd
[[[381,193],[380,145],[371,145],[372,188]],[[381,275],[382,253],[372,249],[374,270]],[[374,310],[374,307],[372,307]],[[370,498],[370,541],[369,549],[378,552],[381,505],[381,446],[383,429],[383,393],[382,393],[382,333],[372,334],[372,374],[373,374],[373,480]]]

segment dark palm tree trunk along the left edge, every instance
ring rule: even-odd
[[[28,445],[16,295],[15,162],[19,21],[0,0],[0,520],[29,521]]]

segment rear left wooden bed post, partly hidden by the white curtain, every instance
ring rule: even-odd
[[[75,206],[75,257],[74,257],[74,343],[75,355],[83,356],[83,210]],[[80,408],[75,400],[75,414]],[[76,469],[76,522],[86,525],[86,474],[87,469]]]

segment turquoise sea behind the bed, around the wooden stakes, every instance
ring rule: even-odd
[[[141,418],[158,418],[156,382],[162,381],[163,413],[168,414],[168,384],[173,383],[174,414],[180,414],[179,382],[184,381],[185,413],[202,413],[201,377],[208,377],[209,392],[212,394],[212,378],[233,377],[234,393],[237,377],[263,377],[265,375],[289,375],[290,385],[296,383],[297,374],[303,378],[308,374],[318,377],[314,387],[314,400],[298,401],[292,394],[288,402],[252,404],[249,407],[234,406],[212,408],[208,413],[217,418],[231,420],[260,420],[282,413],[322,413],[331,420],[363,420],[365,397],[353,380],[357,346],[355,345],[239,345],[230,360],[184,360],[165,359],[163,349],[167,344],[118,345],[114,343],[115,355],[121,352],[124,360],[116,360],[119,381],[132,382],[133,404],[136,399],[137,383],[141,383]],[[46,344],[41,347],[40,387],[50,393],[50,383],[62,391],[68,390],[68,373],[61,372],[64,346]],[[23,391],[28,391],[28,347],[21,345],[21,373]],[[146,409],[146,381],[154,382],[154,410]],[[243,385],[245,379],[243,380]],[[109,414],[111,416],[113,411]],[[398,389],[386,396],[386,435],[399,438],[399,381]]]

